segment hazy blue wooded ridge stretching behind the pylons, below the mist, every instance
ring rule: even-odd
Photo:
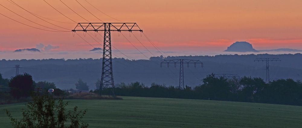
[[[160,62],[164,59],[194,59],[204,63],[204,67],[198,65],[184,65],[185,85],[197,86],[201,80],[210,73],[228,73],[239,76],[261,77],[265,79],[265,62],[254,62],[255,58],[279,58],[281,61],[270,62],[270,78],[301,80],[302,55],[297,54],[250,54],[250,55],[215,55],[215,56],[168,56],[167,58],[151,57],[149,60],[113,59],[114,83],[142,82],[146,86],[151,83],[165,84],[166,86],[178,86],[179,65],[169,67]],[[95,89],[95,82],[101,77],[101,59],[42,59],[42,60],[4,60],[0,61],[0,67],[14,67],[20,64],[19,72],[30,73],[33,79],[38,81],[54,82],[61,89],[75,88],[79,78]],[[3,77],[10,78],[15,75],[15,69],[0,69]]]

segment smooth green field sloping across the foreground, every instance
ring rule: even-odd
[[[90,128],[301,128],[302,107],[230,101],[123,97],[124,100],[65,100],[88,109]],[[10,128],[3,109],[21,117],[24,103],[0,105],[0,127]]]

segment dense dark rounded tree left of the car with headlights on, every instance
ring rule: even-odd
[[[11,78],[8,86],[11,88],[11,95],[20,98],[30,96],[30,92],[34,90],[34,81],[30,74],[24,73]]]

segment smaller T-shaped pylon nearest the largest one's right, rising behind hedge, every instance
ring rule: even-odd
[[[169,67],[169,64],[174,64],[174,67],[176,67],[176,64],[180,64],[180,71],[179,71],[179,89],[185,89],[185,82],[184,82],[184,63],[187,64],[189,67],[189,64],[194,64],[194,67],[196,67],[196,64],[201,64],[201,67],[203,67],[203,63],[199,60],[188,60],[188,59],[174,59],[174,60],[164,60],[160,63],[160,67],[162,67],[162,64],[167,64]],[[182,88],[181,88],[182,87]]]

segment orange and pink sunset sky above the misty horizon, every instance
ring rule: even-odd
[[[22,8],[57,26],[74,29],[76,22],[87,22],[72,12],[59,0],[12,0]],[[144,33],[168,55],[206,55],[223,53],[236,41],[246,41],[257,50],[293,48],[302,49],[302,1],[301,0],[62,0],[72,10],[89,22],[136,22]],[[15,13],[53,29],[65,30],[47,23],[24,11],[7,0],[0,4]],[[51,30],[32,23],[0,6],[0,13],[33,27]],[[72,32],[49,32],[38,30],[0,15],[0,59],[2,58],[100,58],[93,47]],[[56,21],[60,22],[56,22]],[[66,22],[66,23],[61,23]],[[101,47],[90,36],[78,32],[94,47]],[[94,33],[91,33],[94,35]],[[152,56],[129,33],[123,33],[139,50]],[[155,55],[156,49],[140,33],[133,33]],[[103,35],[103,34],[102,34]],[[101,36],[97,38],[102,39]],[[112,45],[133,58],[144,58],[123,36],[111,33]],[[101,41],[100,41],[101,42]],[[36,48],[36,45],[50,45],[37,53],[12,53],[16,49]],[[101,42],[102,43],[102,42]],[[115,51],[113,51],[115,52]],[[119,57],[123,55],[117,53]],[[124,57],[125,58],[125,57]],[[146,59],[146,58],[144,58]]]

